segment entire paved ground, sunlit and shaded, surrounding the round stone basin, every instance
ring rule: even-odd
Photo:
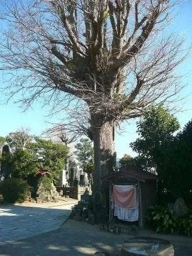
[[[87,256],[96,251],[119,255],[122,242],[133,236],[101,232],[97,225],[71,220],[71,206],[76,202],[67,199],[57,205],[0,205],[0,256]],[[192,255],[191,237],[148,230],[141,230],[138,236],[170,241],[175,256]]]

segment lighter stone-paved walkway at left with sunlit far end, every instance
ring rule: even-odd
[[[76,203],[66,199],[41,205],[0,205],[0,245],[58,229]]]

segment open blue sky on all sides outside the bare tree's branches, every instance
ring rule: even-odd
[[[180,9],[177,9],[177,16],[168,27],[169,31],[175,31],[179,35],[186,37],[186,47],[192,44],[192,1],[183,1]],[[1,26],[1,25],[0,25]],[[179,74],[186,74],[183,77],[183,83],[187,86],[183,89],[181,97],[186,97],[183,102],[178,102],[178,108],[182,107],[183,111],[176,113],[181,127],[192,118],[192,53],[188,59],[181,64],[178,69]],[[4,83],[4,75],[0,74],[0,84]],[[4,99],[0,97],[0,103]],[[181,105],[181,106],[180,106]],[[14,132],[21,127],[29,128],[31,134],[40,135],[47,127],[50,127],[49,122],[56,122],[59,116],[53,118],[48,117],[49,109],[42,107],[38,102],[35,102],[33,109],[23,112],[23,109],[13,102],[3,105],[0,104],[0,136],[6,136],[9,132]],[[121,130],[116,134],[116,151],[117,157],[122,157],[123,154],[132,154],[132,150],[128,147],[130,142],[136,139],[136,119],[132,119],[121,125]]]

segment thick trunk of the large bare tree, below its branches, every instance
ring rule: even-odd
[[[101,206],[108,204],[108,182],[102,177],[109,172],[113,172],[115,165],[114,149],[114,122],[99,124],[98,117],[91,118],[91,131],[94,140],[94,173],[93,173],[93,195],[94,195],[94,215],[96,222]]]

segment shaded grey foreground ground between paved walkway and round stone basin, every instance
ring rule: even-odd
[[[118,255],[122,242],[131,237],[130,235],[114,235],[109,232],[101,232],[96,225],[89,225],[86,222],[69,219],[58,230],[46,232],[24,240],[5,243],[0,246],[0,252],[1,255],[13,256],[78,256],[94,255],[96,251],[105,251],[110,252],[110,255]],[[173,241],[170,240],[176,249],[175,255],[192,255],[190,238],[180,237],[180,242],[178,240],[179,237],[175,240],[173,239]]]

